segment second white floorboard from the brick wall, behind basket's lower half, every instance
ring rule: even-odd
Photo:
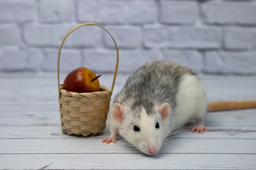
[[[0,106],[0,127],[4,126],[60,126],[58,105]],[[11,113],[11,114],[10,114]],[[256,109],[207,113],[205,125],[256,127]],[[192,120],[195,122],[195,120]]]

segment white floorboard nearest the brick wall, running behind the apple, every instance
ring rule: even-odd
[[[60,75],[61,82],[66,74]],[[122,88],[128,75],[117,74],[113,96]],[[239,76],[200,76],[209,101],[255,100],[256,78]],[[0,105],[58,104],[57,74],[0,74]],[[102,74],[99,82],[111,86],[113,74]],[[18,84],[17,84],[18,83]],[[230,88],[232,87],[232,88]],[[40,90],[38,90],[40,89]],[[241,90],[242,89],[242,90]],[[10,93],[11,92],[11,93]]]

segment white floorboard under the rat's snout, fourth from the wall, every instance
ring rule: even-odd
[[[175,139],[159,153],[256,154],[256,139]],[[29,146],[29,147],[24,147]],[[234,150],[234,148],[236,148]],[[0,154],[7,153],[137,153],[126,143],[102,143],[102,139],[0,139]]]

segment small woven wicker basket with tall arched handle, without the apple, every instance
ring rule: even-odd
[[[96,23],[82,23],[72,28],[65,35],[58,51],[58,102],[60,104],[59,112],[61,113],[61,129],[63,133],[77,136],[82,135],[84,137],[102,133],[106,128],[111,95],[116,81],[119,64],[119,52],[115,40],[105,28],[99,26],[108,32],[116,46],[116,69],[111,89],[105,85],[100,85],[101,91],[93,93],[76,93],[61,89],[63,85],[60,85],[59,64],[61,48],[64,41],[67,36],[77,28],[89,25],[99,26]]]

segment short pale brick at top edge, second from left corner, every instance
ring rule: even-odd
[[[38,20],[41,23],[70,23],[75,20],[73,0],[41,0],[38,6]]]

